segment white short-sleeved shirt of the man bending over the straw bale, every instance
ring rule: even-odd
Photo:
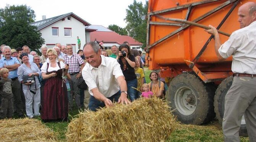
[[[123,76],[120,64],[115,58],[100,55],[101,64],[98,68],[86,63],[82,70],[82,76],[89,88],[89,93],[93,96],[91,90],[98,88],[99,92],[109,98],[117,93],[120,88],[117,83],[117,77]]]

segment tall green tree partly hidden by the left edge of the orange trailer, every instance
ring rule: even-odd
[[[126,30],[129,36],[143,43],[143,48],[146,47],[147,36],[147,7],[148,1],[143,5],[142,2],[133,1],[133,4],[126,9],[125,21],[127,23]]]

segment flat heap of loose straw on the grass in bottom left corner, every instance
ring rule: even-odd
[[[3,142],[55,142],[55,135],[40,120],[0,120],[0,141]]]

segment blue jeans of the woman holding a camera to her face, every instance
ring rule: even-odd
[[[127,93],[128,93],[129,99],[131,101],[134,101],[134,99],[138,98],[137,90],[134,89],[134,88],[137,88],[137,85],[138,85],[137,79],[126,81],[126,84],[127,84]],[[134,87],[134,88],[131,88],[131,87]]]

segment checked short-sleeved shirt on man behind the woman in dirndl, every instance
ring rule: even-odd
[[[64,55],[65,64],[69,64],[69,73],[77,73],[80,71],[79,65],[84,63],[80,55],[73,53],[71,58],[68,58],[68,54]]]

